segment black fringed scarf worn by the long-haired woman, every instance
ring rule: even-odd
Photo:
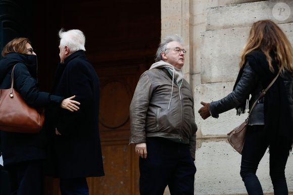
[[[265,89],[270,82],[275,78],[278,73],[278,65],[272,57],[272,65],[274,73],[269,69],[269,64],[264,53],[260,51],[253,51],[246,56],[246,62],[251,68],[257,73],[260,79],[263,89]],[[240,80],[243,68],[238,73],[235,85]],[[285,73],[281,73],[285,74]],[[233,88],[233,89],[234,89]],[[249,100],[249,96],[246,98]],[[292,149],[293,142],[293,119],[291,111],[289,109],[289,102],[286,94],[284,80],[281,76],[277,78],[274,84],[269,88],[264,99],[264,116],[265,116],[265,131],[269,143],[281,145],[283,148]],[[239,107],[236,108],[237,115],[245,113],[248,107],[248,101],[243,102]]]

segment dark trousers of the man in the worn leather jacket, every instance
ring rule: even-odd
[[[194,194],[196,166],[188,144],[148,137],[146,150],[148,157],[139,158],[141,195],[163,194],[167,185],[172,195]]]

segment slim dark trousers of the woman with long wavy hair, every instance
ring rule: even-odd
[[[263,158],[269,142],[265,138],[263,125],[250,126],[242,150],[240,175],[245,183],[248,194],[263,194],[262,186],[256,176],[259,162]],[[275,195],[288,194],[285,178],[285,166],[289,150],[284,150],[279,145],[270,145],[270,177]]]

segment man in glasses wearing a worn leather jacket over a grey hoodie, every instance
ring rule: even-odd
[[[183,78],[186,51],[178,35],[164,38],[156,63],[137,83],[130,105],[130,141],[139,155],[141,195],[194,193],[196,131],[193,97]]]

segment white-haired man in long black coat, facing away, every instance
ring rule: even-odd
[[[99,135],[99,78],[85,57],[84,34],[80,30],[61,29],[59,37],[61,63],[53,93],[65,97],[74,94],[80,106],[74,114],[58,109],[55,116],[55,176],[60,178],[62,195],[88,194],[86,177],[104,175]]]

